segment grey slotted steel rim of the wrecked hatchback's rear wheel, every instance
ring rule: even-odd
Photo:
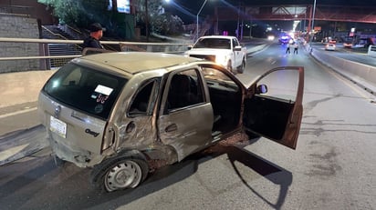
[[[140,184],[141,177],[141,166],[134,161],[127,160],[114,165],[106,173],[104,184],[109,192],[129,187],[133,188]]]

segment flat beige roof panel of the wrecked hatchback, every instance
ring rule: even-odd
[[[96,55],[85,55],[79,58],[95,65],[108,65],[129,74],[184,65],[200,59],[164,53],[150,52],[116,52]]]

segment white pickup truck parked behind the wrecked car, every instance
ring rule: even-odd
[[[243,73],[246,63],[246,48],[235,36],[207,35],[197,39],[188,47],[186,56],[203,58],[224,65],[233,73]]]

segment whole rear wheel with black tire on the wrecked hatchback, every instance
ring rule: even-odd
[[[149,173],[147,163],[133,155],[109,159],[93,168],[91,183],[104,192],[135,188]]]

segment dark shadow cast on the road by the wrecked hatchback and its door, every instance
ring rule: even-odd
[[[89,169],[69,163],[57,166],[50,155],[16,162],[4,165],[1,169],[0,203],[2,209],[115,209],[178,183],[194,175],[198,165],[219,155],[227,155],[243,184],[266,204],[279,209],[292,183],[292,174],[244,148],[255,141],[256,139],[247,141],[246,144],[214,145],[210,150],[188,156],[181,163],[160,168],[135,189],[112,193],[99,192],[91,187]],[[249,185],[235,162],[242,163],[275,185],[280,185],[277,202],[268,201]],[[276,173],[278,174],[274,175]]]

